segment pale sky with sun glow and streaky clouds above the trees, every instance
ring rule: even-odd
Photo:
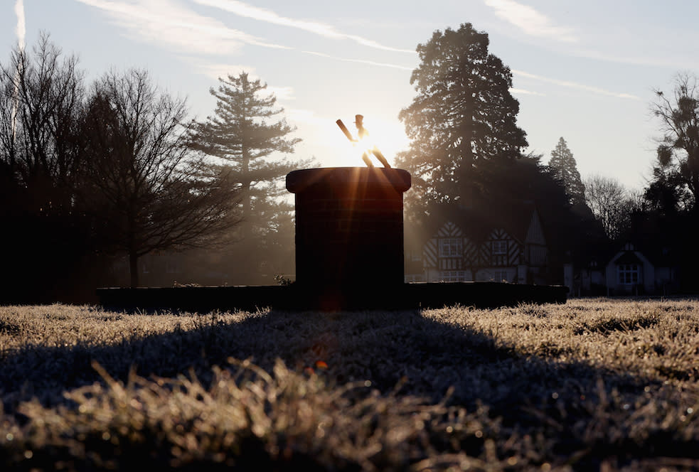
[[[525,151],[562,137],[583,178],[641,189],[655,159],[654,90],[699,73],[693,0],[0,0],[0,61],[41,32],[80,58],[88,83],[144,68],[191,117],[213,114],[218,77],[267,83],[303,141],[290,158],[363,166],[336,119],[355,114],[389,160],[407,146],[398,113],[415,88],[415,48],[471,23],[513,73]]]

